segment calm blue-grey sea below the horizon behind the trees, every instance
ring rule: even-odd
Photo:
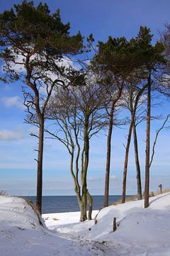
[[[35,203],[35,196],[25,196]],[[109,196],[109,205],[119,201],[121,196]],[[103,196],[93,196],[94,210],[103,207]],[[64,213],[79,211],[76,196],[42,196],[42,213]]]

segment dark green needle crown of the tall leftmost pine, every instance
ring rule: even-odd
[[[0,55],[6,63],[5,70],[13,73],[11,62],[16,63],[20,55],[25,67],[29,58],[31,70],[59,71],[56,60],[84,50],[81,33],[69,36],[69,28],[69,23],[62,23],[60,10],[50,14],[47,4],[35,7],[33,1],[23,1],[4,11],[0,14]]]

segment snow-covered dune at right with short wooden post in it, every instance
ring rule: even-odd
[[[70,213],[72,214],[72,213]],[[87,223],[63,223],[62,216],[45,215],[50,228],[67,238],[95,240],[107,245],[108,255],[157,255],[170,256],[170,193],[150,198],[149,208],[144,201],[132,201],[118,206],[103,208],[94,220]],[[113,233],[113,218],[117,218],[118,228]],[[73,233],[74,230],[74,233]],[[110,249],[108,249],[110,248]],[[106,250],[106,251],[107,251]]]

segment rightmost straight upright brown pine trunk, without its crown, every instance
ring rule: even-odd
[[[145,208],[149,206],[149,161],[150,161],[150,112],[151,112],[151,73],[147,85],[147,131],[145,150]]]

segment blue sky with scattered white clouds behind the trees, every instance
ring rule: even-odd
[[[34,1],[35,5],[39,1]],[[45,1],[42,1],[43,3]],[[57,0],[46,1],[53,12],[60,9],[63,23],[71,23],[70,33],[81,31],[87,37],[93,33],[95,43],[106,41],[108,36],[137,36],[140,26],[148,26],[154,34],[153,42],[159,38],[164,23],[170,23],[168,0]],[[10,9],[21,1],[1,1],[0,12]],[[24,123],[26,113],[23,107],[22,83],[0,83],[0,190],[10,195],[34,196],[36,188],[36,151],[38,142],[30,137],[35,127]],[[162,100],[159,99],[159,100]],[[155,107],[154,114],[168,114],[169,102]],[[152,122],[152,142],[161,122]],[[140,145],[142,180],[145,171],[145,124],[137,129]],[[114,128],[111,159],[111,194],[120,194],[128,127]],[[91,140],[88,172],[89,191],[103,195],[106,166],[106,134]],[[159,136],[154,162],[151,168],[151,190],[156,191],[159,183],[169,187],[169,129]],[[128,193],[135,194],[136,174],[133,148],[130,149],[128,166]],[[74,195],[72,177],[69,173],[69,155],[64,147],[54,140],[45,139],[43,170],[43,195]]]

